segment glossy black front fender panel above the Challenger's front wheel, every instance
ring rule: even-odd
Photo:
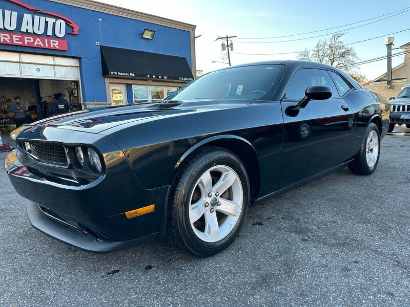
[[[223,139],[251,146],[261,164],[261,178],[265,177],[263,182],[269,184],[266,189],[276,188],[283,131],[279,102],[198,108],[195,112],[120,128],[105,133],[124,151],[138,181],[146,189],[170,185],[176,167],[193,150]],[[272,165],[275,178],[272,178],[272,171],[268,171]]]

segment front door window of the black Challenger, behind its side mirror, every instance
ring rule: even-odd
[[[298,70],[286,90],[284,99],[301,100],[304,92],[311,85],[326,85],[332,90],[332,97],[338,97],[339,93],[327,71],[322,69],[303,68]]]

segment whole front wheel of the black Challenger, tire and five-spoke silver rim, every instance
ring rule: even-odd
[[[171,187],[167,242],[194,256],[219,253],[238,235],[249,201],[247,173],[232,152],[219,147],[198,151]]]

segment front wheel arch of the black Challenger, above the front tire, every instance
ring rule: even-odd
[[[188,161],[189,157],[201,148],[209,146],[216,146],[232,151],[242,161],[249,177],[251,200],[255,199],[260,187],[260,169],[256,149],[248,140],[235,135],[214,136],[193,145],[178,159],[173,169],[172,178],[175,178],[178,170]]]

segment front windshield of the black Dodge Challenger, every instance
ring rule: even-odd
[[[283,70],[283,65],[254,65],[215,71],[181,87],[166,100],[269,99]]]

